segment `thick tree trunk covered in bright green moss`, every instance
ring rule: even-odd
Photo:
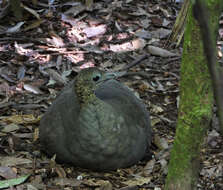
[[[210,11],[216,11],[216,5],[218,3],[220,5],[220,1],[205,0],[204,2],[208,2],[212,7]],[[215,15],[215,20],[211,19],[211,27],[218,23],[215,11],[210,12],[211,18]],[[212,83],[199,26],[193,17],[191,5],[183,48],[178,123],[165,190],[196,189],[200,150],[212,116]]]

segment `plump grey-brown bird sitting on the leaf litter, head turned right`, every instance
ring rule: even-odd
[[[40,121],[40,142],[59,162],[95,171],[128,167],[151,141],[149,113],[116,73],[80,71]]]

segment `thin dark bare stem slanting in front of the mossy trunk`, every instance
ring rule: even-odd
[[[214,5],[214,6],[213,6]],[[214,89],[214,97],[218,108],[218,119],[220,123],[221,134],[223,135],[223,68],[220,67],[217,61],[216,39],[218,32],[218,18],[223,11],[223,4],[218,1],[215,4],[208,4],[211,10],[211,17],[209,17],[207,8],[203,0],[196,0],[194,5],[194,15],[198,20],[203,37],[204,52],[208,61],[208,68],[212,78]],[[200,11],[196,11],[200,9]],[[209,19],[212,19],[212,26],[209,26]]]

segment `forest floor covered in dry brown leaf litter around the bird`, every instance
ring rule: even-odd
[[[0,1],[0,188],[161,190],[179,101],[182,45],[168,38],[182,3],[162,0],[22,0],[18,21]],[[39,146],[41,116],[83,68],[120,70],[144,101],[153,128],[151,154],[111,172],[58,164]],[[223,140],[216,116],[201,152],[198,189],[223,189]],[[11,185],[10,185],[11,184]],[[14,185],[14,186],[13,186]]]

